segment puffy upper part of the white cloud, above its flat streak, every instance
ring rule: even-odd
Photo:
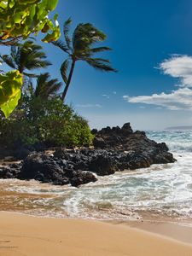
[[[163,73],[180,79],[182,86],[192,87],[192,56],[172,55],[160,64]]]

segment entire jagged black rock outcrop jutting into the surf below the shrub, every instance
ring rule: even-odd
[[[0,168],[0,178],[36,179],[55,185],[96,182],[97,176],[174,162],[166,143],[155,143],[129,123],[95,133],[95,148],[57,148],[54,154],[29,154],[20,164]]]

